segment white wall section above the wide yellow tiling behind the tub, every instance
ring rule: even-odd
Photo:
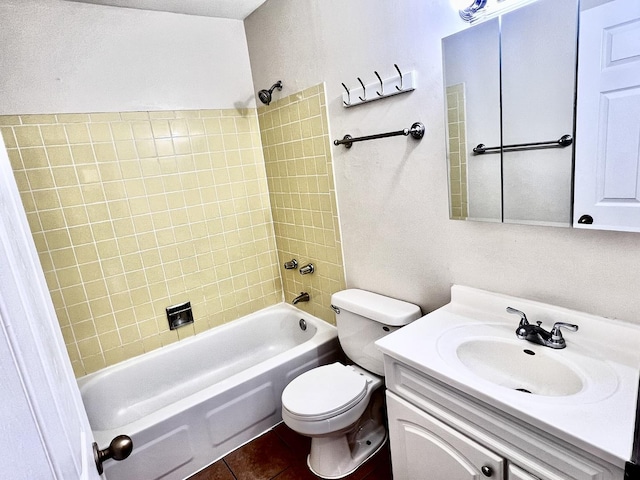
[[[0,0],[0,115],[255,107],[240,20]]]

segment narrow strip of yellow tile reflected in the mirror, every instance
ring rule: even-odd
[[[467,194],[467,144],[464,84],[447,87],[447,129],[449,132],[449,194],[451,218],[469,216]]]

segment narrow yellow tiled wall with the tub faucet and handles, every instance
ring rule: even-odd
[[[345,288],[324,85],[258,109],[285,299],[335,324],[331,294]],[[313,263],[315,273],[285,270]]]

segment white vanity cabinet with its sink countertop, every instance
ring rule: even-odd
[[[566,348],[526,341],[514,309],[579,330]],[[376,342],[394,479],[623,480],[638,345],[636,324],[453,285],[450,303]]]

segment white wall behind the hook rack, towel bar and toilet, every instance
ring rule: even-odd
[[[452,283],[640,323],[640,236],[449,220],[440,39],[449,0],[268,0],[245,20],[255,87],[326,82],[331,137],[426,125],[425,138],[332,147],[347,283],[431,310]],[[393,64],[415,92],[345,109],[342,86]]]

